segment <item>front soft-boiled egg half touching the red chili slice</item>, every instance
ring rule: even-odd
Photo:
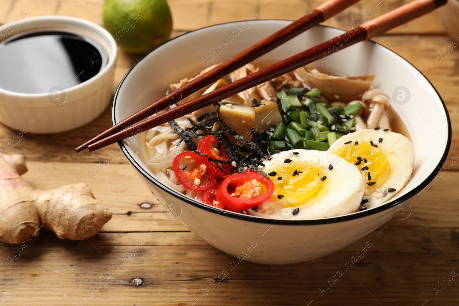
[[[289,150],[263,161],[274,183],[271,197],[248,213],[276,219],[314,219],[356,211],[364,195],[357,167],[325,151]]]

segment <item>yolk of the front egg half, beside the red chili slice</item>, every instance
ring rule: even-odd
[[[276,172],[274,177],[270,177],[274,183],[271,198],[286,200],[293,205],[313,199],[327,182],[326,179],[321,180],[325,176],[322,168],[306,161],[285,163],[270,170]],[[282,179],[278,179],[280,177]]]

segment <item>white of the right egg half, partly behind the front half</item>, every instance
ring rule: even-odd
[[[378,141],[380,138],[382,138],[381,143]],[[389,175],[382,186],[379,186],[373,192],[365,191],[364,198],[369,201],[364,205],[365,207],[371,208],[381,205],[396,195],[408,183],[411,172],[413,171],[414,158],[414,147],[408,138],[402,134],[383,131],[381,129],[364,129],[344,135],[330,146],[328,152],[336,154],[340,148],[346,146],[345,143],[348,141],[352,142],[347,145],[355,145],[355,141],[373,141],[378,146],[377,149],[381,150],[381,153],[386,156],[390,168]],[[354,167],[360,171],[364,166],[365,164],[362,162],[360,165]],[[371,165],[369,166],[369,171],[371,172]],[[369,181],[364,173],[362,173],[362,177],[366,188],[369,189],[367,185]],[[396,189],[396,191],[388,192],[390,188]]]

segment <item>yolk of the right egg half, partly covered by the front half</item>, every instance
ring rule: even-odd
[[[362,172],[365,183],[367,183],[365,184],[365,188],[369,190],[376,189],[384,184],[391,171],[386,155],[382,153],[379,148],[366,141],[361,141],[358,145],[351,143],[341,146],[337,152],[332,153],[344,158],[353,165],[358,163],[357,167],[360,169],[360,172]],[[360,157],[362,161],[359,162],[360,158],[358,159],[358,157]],[[367,162],[365,162],[365,160]],[[368,169],[364,167],[368,167]],[[364,170],[361,170],[362,168]],[[369,177],[368,173],[370,173]],[[372,182],[376,183],[371,184]],[[370,185],[368,185],[368,183],[370,183]]]

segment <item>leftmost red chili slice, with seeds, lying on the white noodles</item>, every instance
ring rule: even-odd
[[[193,169],[189,168],[189,165],[194,164]],[[186,188],[196,191],[202,191],[209,189],[216,183],[214,175],[203,171],[201,167],[202,163],[199,161],[199,155],[195,152],[183,152],[175,156],[172,163],[174,173]],[[184,170],[185,169],[185,170]],[[196,179],[199,180],[199,184],[195,184]]]

